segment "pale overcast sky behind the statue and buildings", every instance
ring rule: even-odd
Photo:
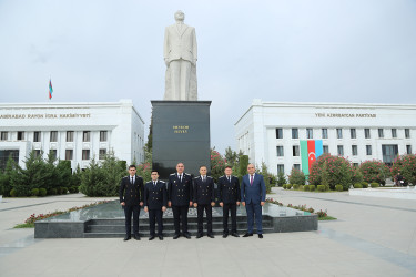
[[[199,100],[222,153],[253,99],[416,103],[414,0],[0,0],[0,102],[132,99],[148,132],[176,10],[196,30]]]

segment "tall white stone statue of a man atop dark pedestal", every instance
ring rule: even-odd
[[[183,23],[185,14],[175,12],[176,23],[164,32],[166,63],[164,100],[197,100],[195,28]]]

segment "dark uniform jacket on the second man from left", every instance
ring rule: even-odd
[[[153,185],[153,181],[145,183],[144,206],[148,206],[149,209],[168,207],[166,183],[163,181],[158,181],[156,185]]]

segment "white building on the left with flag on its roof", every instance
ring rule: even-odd
[[[130,164],[143,162],[143,146],[144,121],[131,100],[0,104],[0,167],[10,154],[23,166],[31,151],[52,152],[72,170],[111,152]]]

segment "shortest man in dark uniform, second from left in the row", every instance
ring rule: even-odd
[[[153,240],[155,236],[155,222],[158,220],[158,237],[163,240],[163,212],[166,211],[168,194],[166,183],[159,181],[158,171],[152,171],[152,181],[144,185],[144,212],[149,212],[150,238]]]

